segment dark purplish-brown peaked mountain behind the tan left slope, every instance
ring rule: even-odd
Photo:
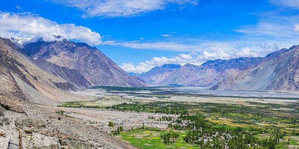
[[[61,67],[78,70],[92,85],[144,86],[130,76],[97,48],[60,37],[53,42],[28,43],[21,49],[35,60],[45,60]]]

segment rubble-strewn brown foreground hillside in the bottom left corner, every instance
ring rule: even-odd
[[[34,149],[135,148],[80,121],[1,93],[0,140],[19,144],[19,129],[23,148],[28,148],[31,136]]]

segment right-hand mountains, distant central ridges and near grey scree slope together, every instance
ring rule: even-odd
[[[299,46],[266,57],[210,60],[202,65],[165,64],[138,77],[150,85],[181,84],[212,90],[298,91]]]

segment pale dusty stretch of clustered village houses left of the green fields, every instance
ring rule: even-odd
[[[88,109],[88,110],[87,110]],[[91,112],[92,111],[92,112]],[[120,112],[113,109],[95,109],[95,108],[60,108],[56,113],[63,112],[65,117],[80,120],[81,123],[90,125],[101,131],[111,134],[118,126],[123,126],[123,131],[140,128],[141,126],[166,129],[172,121],[167,121],[163,117],[171,117],[176,120],[178,115],[166,115],[162,113],[147,112]],[[114,126],[108,126],[112,121]],[[187,125],[184,121],[180,125]]]

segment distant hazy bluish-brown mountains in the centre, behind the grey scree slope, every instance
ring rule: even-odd
[[[165,85],[181,84],[188,86],[211,86],[223,77],[235,71],[252,68],[263,61],[263,58],[236,58],[213,60],[202,65],[185,64],[184,66],[167,64],[154,67],[139,78],[148,84]]]

